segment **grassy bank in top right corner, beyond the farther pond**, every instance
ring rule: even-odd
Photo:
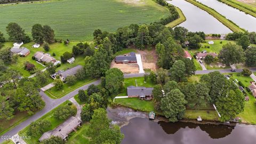
[[[256,6],[251,6],[249,4],[245,4],[242,2],[238,2],[236,0],[218,0],[219,2],[225,3],[235,9],[245,12],[246,14],[250,14],[256,18]]]

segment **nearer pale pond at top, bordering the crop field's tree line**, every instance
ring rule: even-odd
[[[215,19],[209,13],[199,9],[193,4],[184,0],[167,1],[180,8],[186,17],[186,21],[179,26],[187,28],[189,31],[204,31],[206,34],[227,34],[231,30]]]

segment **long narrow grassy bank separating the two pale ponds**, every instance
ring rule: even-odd
[[[223,25],[227,26],[230,30],[244,32],[244,30],[239,28],[239,26],[237,26],[234,22],[226,19],[223,15],[221,15],[220,13],[215,11],[214,9],[211,9],[210,7],[208,7],[208,6],[206,6],[202,3],[199,3],[197,1],[194,1],[194,0],[185,0],[185,1],[193,4],[197,7],[199,7],[200,9],[206,11],[207,13],[211,14],[214,18],[219,20]]]

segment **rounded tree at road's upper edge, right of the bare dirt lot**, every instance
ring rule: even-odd
[[[170,69],[171,79],[176,82],[186,82],[186,67],[185,63],[181,60],[175,61]]]

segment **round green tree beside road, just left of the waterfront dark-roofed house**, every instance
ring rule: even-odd
[[[118,93],[124,82],[124,74],[118,68],[111,68],[106,72],[105,88],[110,94]]]

